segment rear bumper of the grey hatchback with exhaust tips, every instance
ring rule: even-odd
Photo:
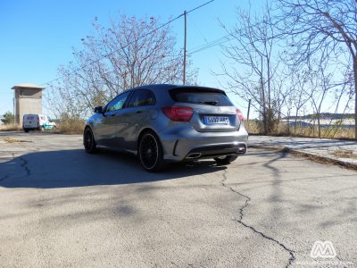
[[[248,133],[237,131],[197,132],[191,127],[159,133],[166,162],[191,161],[222,155],[244,155]]]

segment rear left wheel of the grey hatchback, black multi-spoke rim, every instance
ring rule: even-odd
[[[152,131],[145,132],[140,138],[137,155],[141,165],[147,172],[159,172],[165,166],[162,144]]]

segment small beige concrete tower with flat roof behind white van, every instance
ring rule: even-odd
[[[24,114],[42,113],[42,90],[40,87],[33,84],[21,84],[13,86],[15,94],[15,120],[19,125],[22,125]]]

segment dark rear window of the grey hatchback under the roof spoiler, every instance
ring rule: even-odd
[[[214,88],[172,88],[170,96],[175,102],[198,105],[232,106],[224,91]]]

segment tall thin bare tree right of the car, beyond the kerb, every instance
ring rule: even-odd
[[[286,101],[279,70],[275,28],[267,6],[262,14],[237,10],[237,25],[227,29],[231,41],[222,45],[228,63],[222,64],[228,89],[252,105],[262,115],[263,131],[271,133]]]

